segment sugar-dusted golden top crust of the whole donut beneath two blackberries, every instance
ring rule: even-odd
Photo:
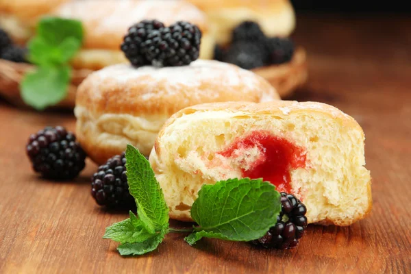
[[[189,66],[157,70],[149,66],[135,69],[128,64],[110,66],[84,80],[77,90],[76,105],[95,114],[171,116],[198,103],[258,102],[264,96],[279,98],[262,77],[232,64],[197,60]]]

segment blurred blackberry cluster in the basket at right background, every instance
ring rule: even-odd
[[[245,21],[232,32],[232,43],[227,49],[216,46],[214,59],[236,64],[242,69],[255,69],[271,64],[289,62],[294,44],[289,38],[268,38],[258,23]]]

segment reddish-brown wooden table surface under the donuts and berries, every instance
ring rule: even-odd
[[[25,142],[45,125],[73,129],[71,113],[38,114],[0,101],[0,273],[411,273],[411,19],[300,15],[295,40],[310,79],[292,98],[336,105],[366,135],[373,210],[350,227],[310,225],[297,249],[169,234],[121,258],[105,227],[127,217],[96,206],[87,167],[74,182],[38,178]]]

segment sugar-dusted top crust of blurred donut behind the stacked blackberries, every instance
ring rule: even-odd
[[[71,1],[52,13],[82,21],[86,49],[119,49],[127,29],[142,19],[155,18],[166,25],[190,21],[198,25],[203,34],[208,32],[206,15],[194,5],[179,0]]]

